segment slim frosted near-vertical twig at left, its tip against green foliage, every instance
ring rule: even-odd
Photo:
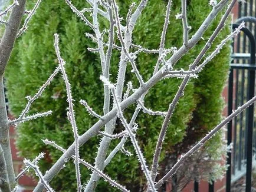
[[[55,52],[57,54],[58,62],[60,64],[61,72],[63,74],[63,79],[65,81],[65,86],[67,90],[67,100],[68,100],[68,120],[70,120],[70,123],[73,128],[73,133],[74,133],[74,140],[75,140],[75,165],[76,165],[76,177],[77,177],[77,191],[81,191],[81,179],[80,179],[80,168],[79,168],[79,144],[78,144],[78,133],[77,133],[77,125],[76,125],[76,120],[75,120],[75,112],[73,109],[73,98],[71,95],[71,86],[70,82],[68,81],[67,74],[65,73],[65,68],[64,68],[64,60],[60,56],[60,48],[58,47],[58,34],[54,34],[55,41],[54,41],[54,48]]]

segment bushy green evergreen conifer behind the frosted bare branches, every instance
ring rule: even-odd
[[[127,15],[127,11],[132,2],[133,1],[119,1],[119,4],[122,5],[120,15]],[[136,3],[138,2],[139,1]],[[84,8],[83,1],[76,1],[74,4],[76,4],[79,9]],[[159,47],[161,35],[159,28],[162,27],[165,21],[165,9],[167,4],[168,1],[150,1],[148,3],[134,28],[134,44],[150,49],[157,49]],[[199,28],[205,16],[211,11],[211,7],[208,6],[208,4],[209,2],[198,0],[189,2],[188,19],[189,22],[193,24],[191,34]],[[28,7],[30,5],[34,6],[34,3],[29,2]],[[180,11],[180,2],[173,2],[170,10],[170,18],[175,18],[175,15]],[[49,17],[49,15],[51,15],[51,17]],[[218,15],[217,18],[221,18],[221,15]],[[211,35],[211,32],[218,24],[218,19],[216,19],[209,27],[208,31],[205,32],[205,39],[209,38]],[[100,23],[104,26],[107,25],[105,20],[106,19],[100,18]],[[180,45],[182,45],[182,38],[176,36],[176,34],[182,33],[180,22],[174,22],[172,27],[168,29],[165,42],[166,47],[171,47],[172,45],[180,47]],[[122,23],[125,25],[126,21]],[[38,28],[38,25],[40,25],[40,28]],[[227,25],[227,27],[222,30],[215,40],[213,47],[219,44],[221,39],[229,34],[228,28]],[[70,78],[70,83],[74,87],[74,100],[78,101],[80,98],[85,98],[88,104],[95,105],[95,107],[93,107],[94,110],[100,114],[103,108],[102,100],[104,94],[100,80],[96,79],[97,74],[101,72],[100,58],[97,54],[92,54],[87,51],[87,47],[95,46],[91,39],[88,39],[86,35],[84,35],[84,32],[91,32],[90,28],[84,27],[83,21],[80,21],[76,15],[73,15],[64,1],[43,1],[40,8],[37,10],[37,14],[35,14],[31,20],[29,30],[22,35],[21,39],[18,39],[13,57],[6,71],[6,85],[8,88],[7,93],[11,112],[18,116],[27,102],[25,96],[32,94],[38,87],[38,84],[42,84],[48,74],[55,68],[54,61],[57,61],[55,60],[54,48],[52,47],[52,35],[55,32],[63,34],[61,35],[61,41],[64,43],[62,54],[67,58],[65,59],[67,62],[65,66]],[[117,39],[115,43],[119,44]],[[198,46],[192,49],[189,55],[186,55],[179,61],[177,68],[186,68],[188,63],[192,63],[193,58],[198,55],[199,51],[204,47],[204,44],[204,39],[199,41]],[[26,49],[24,49],[24,47],[26,47]],[[133,50],[136,51],[136,48],[133,48]],[[119,51],[115,51],[111,58],[111,64],[113,65],[113,67],[111,66],[110,68],[111,81],[116,80],[119,54]],[[157,61],[157,57],[156,52],[149,55],[141,51],[137,55],[137,62],[142,64],[139,65],[138,68],[143,77],[149,78],[153,73],[153,66]],[[44,58],[43,64],[41,58]],[[213,61],[209,62],[205,70],[199,75],[199,78],[191,81],[189,85],[187,85],[185,96],[176,107],[168,127],[162,158],[160,160],[162,165],[159,170],[159,176],[165,173],[166,166],[171,166],[176,162],[180,154],[188,150],[188,146],[199,140],[202,135],[207,133],[211,127],[214,127],[221,120],[221,91],[227,77],[228,64],[229,45],[225,45],[225,47],[222,48],[222,52],[215,57]],[[12,75],[17,68],[19,68],[24,75],[19,77]],[[68,145],[73,142],[73,137],[68,137],[68,135],[72,134],[72,130],[70,130],[68,120],[65,118],[65,108],[67,108],[67,103],[65,102],[65,85],[61,75],[58,75],[57,78],[58,80],[53,81],[50,88],[45,90],[43,95],[44,99],[35,102],[31,108],[31,113],[42,111],[43,109],[54,109],[53,114],[47,118],[24,123],[20,125],[18,129],[19,136],[17,138],[17,144],[22,157],[33,158],[40,151],[45,151],[50,155],[49,158],[41,161],[42,163],[44,162],[44,164],[41,165],[42,171],[47,170],[51,165],[49,161],[52,161],[52,163],[55,162],[60,156],[60,153],[58,151],[52,151],[51,147],[45,146],[42,141],[38,142],[40,138],[54,140],[64,147],[68,147]],[[134,87],[137,86],[136,78],[130,74],[127,74],[126,81],[131,81]],[[168,82],[159,82],[159,84],[147,94],[145,105],[149,108],[153,108],[153,110],[166,110],[166,103],[172,100],[181,81],[182,80],[173,78]],[[22,85],[26,85],[25,89]],[[86,111],[79,103],[75,104],[74,107],[77,111],[77,125],[81,129],[78,131],[83,133],[88,126],[95,123],[95,120],[89,115],[84,115]],[[134,108],[130,108],[126,113],[127,117],[131,118],[133,111]],[[56,121],[56,119],[60,120]],[[140,114],[137,120],[140,127],[139,130],[137,130],[137,137],[140,140],[140,144],[143,146],[142,150],[145,151],[145,157],[147,159],[153,157],[157,141],[156,136],[162,124],[162,120],[162,117],[148,114]],[[119,122],[118,120],[116,133],[123,129],[123,126]],[[186,138],[184,141],[183,137],[185,135]],[[196,137],[194,135],[196,135]],[[96,147],[98,146],[100,138],[101,137],[91,139],[87,147],[83,148],[85,154],[81,154],[81,157],[86,158],[86,160],[92,164],[94,163],[95,151],[97,151]],[[219,153],[218,156],[216,155],[216,150],[221,147],[219,145],[219,143],[221,143],[220,139],[221,137],[219,135],[215,137],[214,141],[211,141],[212,144],[209,145],[211,148],[205,150],[205,153],[207,151],[208,155],[215,155],[217,158],[223,155]],[[113,150],[117,141],[111,141],[113,144],[110,145],[110,150]],[[126,147],[132,150],[132,146],[130,146],[128,142]],[[212,151],[214,151],[214,154],[212,154]],[[203,158],[203,156],[204,155],[200,155],[201,158]],[[124,161],[120,161],[120,159],[124,159]],[[213,160],[216,160],[216,158],[212,158],[212,161]],[[127,161],[130,163],[127,164]],[[201,163],[198,160],[196,160],[196,162]],[[149,163],[151,164],[152,160],[149,160]],[[129,168],[130,164],[133,164],[132,168]],[[52,180],[51,186],[58,190],[73,191],[74,188],[76,188],[73,164],[67,164],[66,167],[67,168],[61,171],[57,180]],[[192,167],[195,167],[195,165]],[[193,179],[192,176],[195,176],[195,174],[188,171],[192,170],[191,168],[187,168],[186,176],[189,175],[191,177],[190,179]],[[219,171],[214,170],[212,163],[209,164],[208,167],[201,169],[201,171],[203,170],[212,175],[214,175],[213,172]],[[90,171],[86,169],[81,171],[81,173],[83,173],[83,180],[90,178]],[[143,188],[143,173],[139,171],[139,163],[133,156],[127,157],[125,154],[117,153],[116,157],[114,157],[111,163],[106,167],[106,173],[120,180],[123,184],[129,184],[129,188],[133,190]],[[182,171],[182,173],[184,173],[184,171]],[[219,174],[219,176],[221,176],[221,174]],[[60,177],[68,177],[68,182],[66,180],[60,181]],[[179,178],[182,177],[183,175],[179,176]],[[188,179],[186,180],[189,181]],[[131,181],[133,181],[132,185],[130,185]],[[101,181],[97,189],[105,189],[106,186],[104,184],[104,181]]]

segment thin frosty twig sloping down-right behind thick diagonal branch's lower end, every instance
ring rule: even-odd
[[[42,140],[42,141],[44,141],[44,143],[47,144],[47,145],[52,145],[52,147],[57,148],[57,150],[60,150],[63,153],[65,153],[65,151],[66,151],[63,147],[61,147],[60,145],[56,144],[55,141],[49,141],[47,139]],[[72,155],[71,157],[76,160],[76,156],[75,155]],[[86,161],[82,160],[81,158],[78,158],[78,161],[79,161],[79,163],[81,163],[81,164],[85,165],[86,167],[90,168],[90,170],[93,170],[97,174],[99,174],[99,176],[104,178],[104,180],[106,180],[108,183],[110,183],[111,186],[117,187],[121,191],[126,191],[126,192],[129,191],[129,190],[126,189],[126,187],[124,187],[124,186],[120,185],[119,183],[117,183],[116,181],[112,180],[109,176],[107,176],[107,174],[104,174],[97,167],[93,167],[93,165],[91,165],[90,163],[87,163]]]

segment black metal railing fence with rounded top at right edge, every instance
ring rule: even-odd
[[[239,19],[240,21],[244,19]],[[248,22],[253,22],[253,18],[247,18]],[[234,24],[233,28],[238,27]],[[243,28],[243,35],[250,41],[250,58],[248,54],[234,53],[231,71],[229,74],[228,88],[228,115],[232,110],[250,100],[255,94],[255,38],[248,28]],[[239,43],[239,37],[238,42]],[[239,44],[238,44],[239,45]],[[244,49],[245,50],[245,49]],[[239,51],[239,49],[238,49]],[[249,62],[249,63],[248,63]],[[255,148],[256,134],[254,128],[254,105],[251,105],[245,112],[228,124],[228,144],[232,143],[232,153],[228,153],[226,191],[231,191],[231,181],[239,179],[246,173],[245,191],[251,191],[252,177],[252,156],[254,155],[252,146]],[[233,176],[233,178],[232,178]]]

